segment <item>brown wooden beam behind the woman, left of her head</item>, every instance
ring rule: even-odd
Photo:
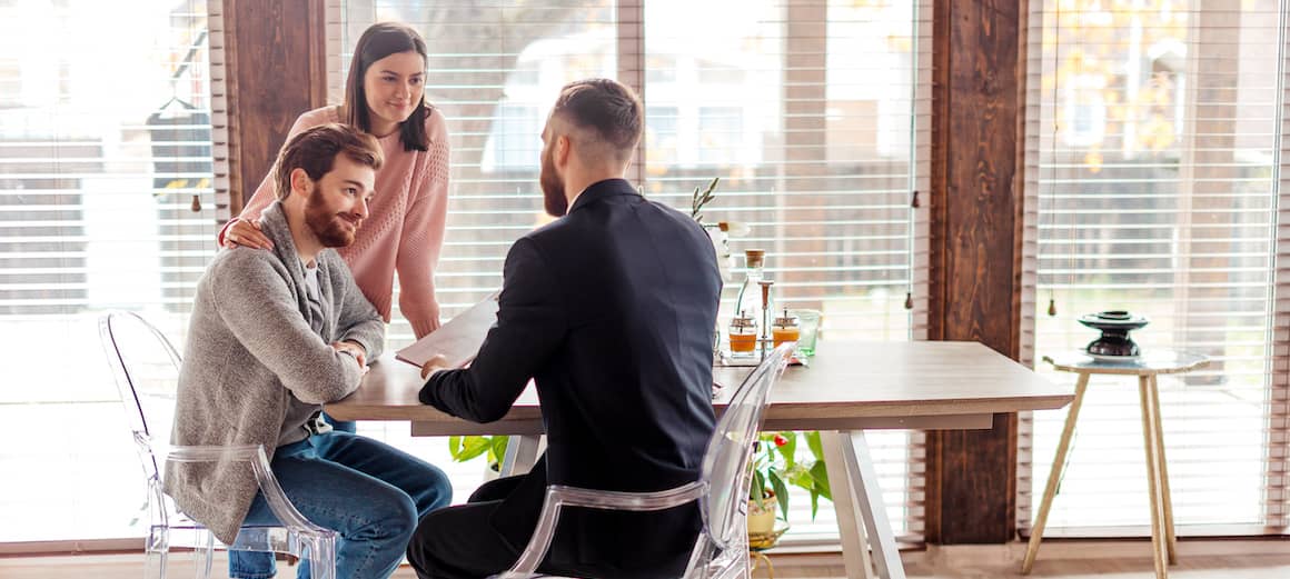
[[[326,103],[324,0],[224,0],[230,202],[241,213],[295,117]]]

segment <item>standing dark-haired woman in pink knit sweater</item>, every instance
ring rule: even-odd
[[[381,142],[386,162],[377,172],[372,214],[353,245],[339,251],[386,322],[399,273],[399,309],[417,338],[439,328],[433,273],[448,218],[448,129],[442,113],[426,103],[426,41],[410,26],[372,25],[353,49],[344,103],[301,115],[286,135],[344,123]],[[258,224],[259,213],[275,199],[271,177],[272,170],[219,232],[222,245],[271,248]]]

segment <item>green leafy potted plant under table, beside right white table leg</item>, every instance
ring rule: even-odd
[[[806,441],[810,459],[797,459],[799,435]],[[759,435],[752,456],[752,485],[748,489],[748,498],[764,509],[766,502],[771,499],[766,490],[773,490],[774,500],[779,503],[779,518],[788,518],[788,485],[810,494],[811,518],[815,518],[819,511],[820,498],[833,500],[819,432],[784,431]]]

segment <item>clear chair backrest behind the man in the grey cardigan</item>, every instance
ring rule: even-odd
[[[98,333],[135,441],[169,444],[179,352],[165,334],[133,312],[106,313]],[[151,455],[141,455],[141,460],[146,476],[160,476]]]

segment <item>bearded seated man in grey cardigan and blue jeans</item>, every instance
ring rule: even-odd
[[[277,201],[261,222],[272,250],[230,249],[197,282],[174,419],[181,445],[263,445],[297,509],[341,536],[341,578],[387,578],[419,517],[450,502],[441,471],[382,442],[330,432],[322,405],[359,388],[384,322],[330,248],[368,217],[377,141],[343,125],[294,137],[275,165]],[[166,493],[231,543],[272,525],[244,464],[170,466]],[[231,553],[233,578],[272,576],[270,553]],[[266,574],[267,573],[267,574]],[[302,564],[299,576],[308,576]]]

